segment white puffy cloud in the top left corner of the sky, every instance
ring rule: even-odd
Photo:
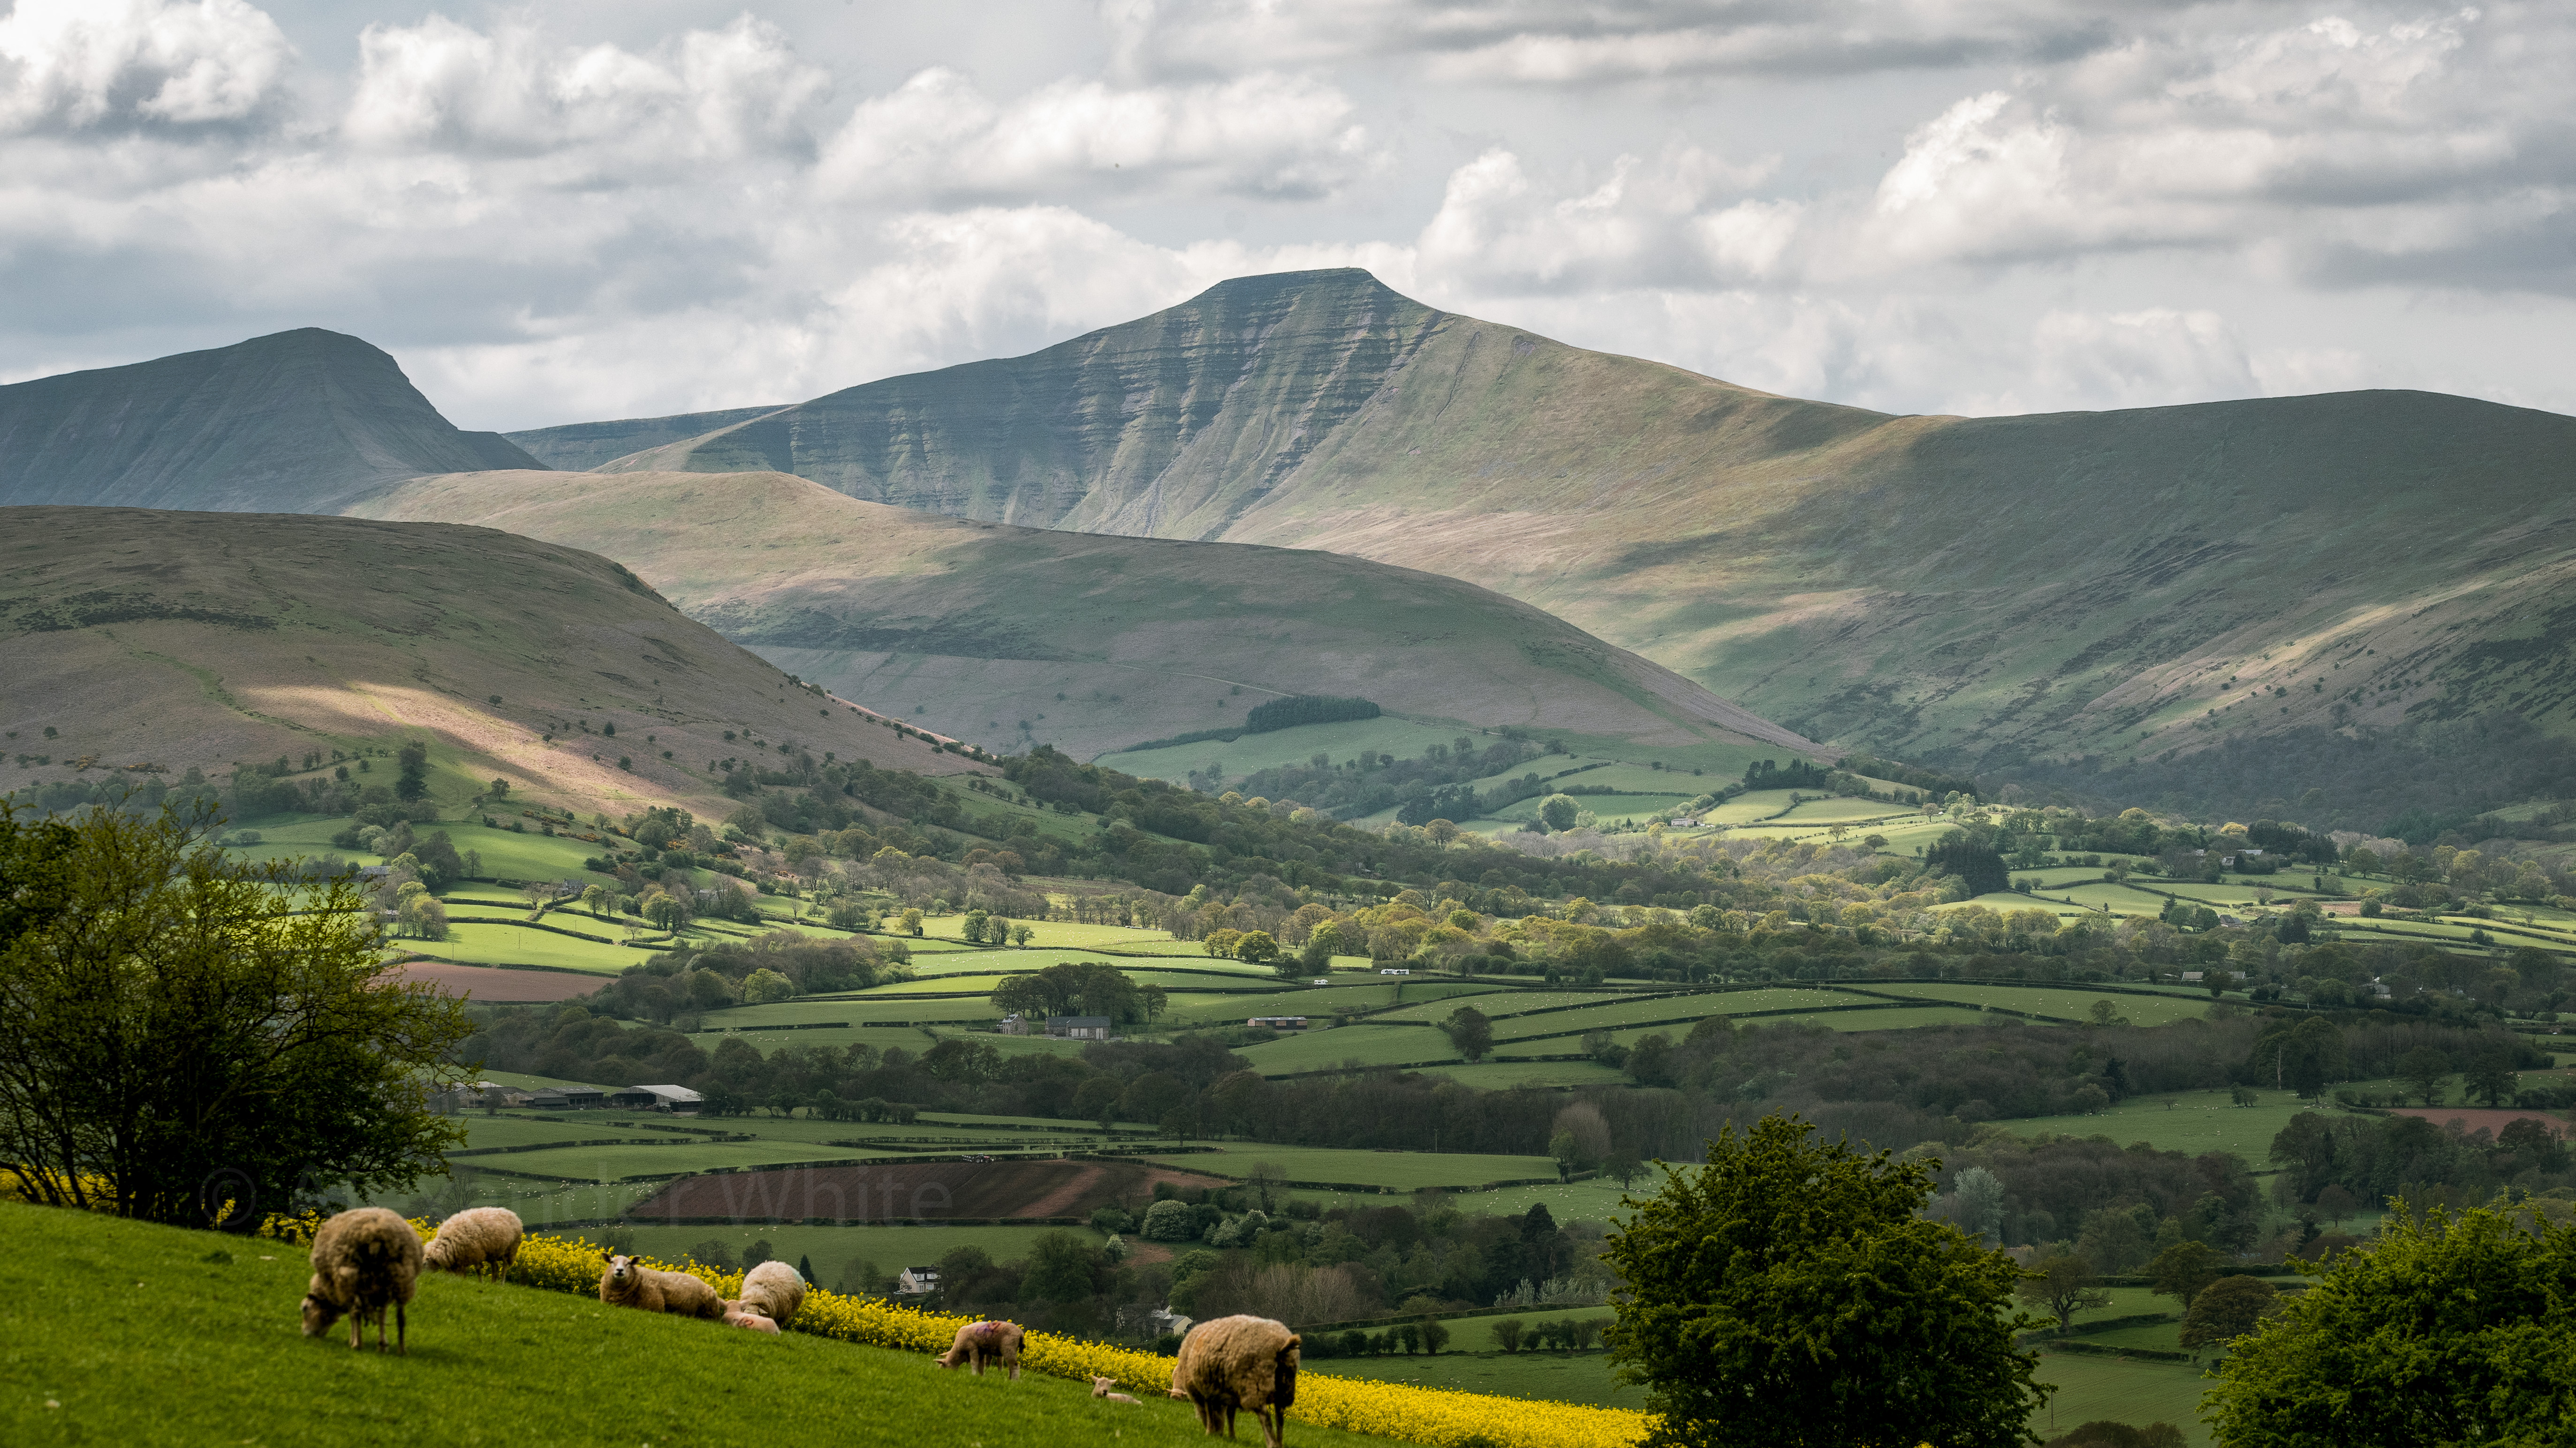
[[[242,121],[291,64],[242,0],[18,0],[0,18],[0,134]]]

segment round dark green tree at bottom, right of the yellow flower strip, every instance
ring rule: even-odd
[[[1937,1162],[1814,1131],[1721,1129],[1610,1234],[1628,1286],[1610,1360],[1662,1415],[1654,1443],[2025,1443],[2050,1389],[2012,1345],[2032,1327],[2004,1311],[2020,1268],[1917,1216]]]

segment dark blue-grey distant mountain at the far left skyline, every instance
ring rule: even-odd
[[[0,386],[0,505],[330,513],[425,472],[544,466],[461,433],[379,348],[301,327]]]

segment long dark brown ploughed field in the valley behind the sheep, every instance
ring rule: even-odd
[[[1103,1206],[1144,1211],[1154,1183],[1224,1188],[1146,1162],[894,1162],[781,1167],[680,1177],[626,1208],[636,1221],[956,1221],[1090,1216]]]

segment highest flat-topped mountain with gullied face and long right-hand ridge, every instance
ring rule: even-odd
[[[2576,420],[2463,397],[1888,417],[1311,271],[603,464],[670,469],[1443,572],[1893,755],[2576,732]]]

